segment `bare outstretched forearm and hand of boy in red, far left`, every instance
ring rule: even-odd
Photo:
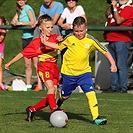
[[[9,61],[7,64],[5,64],[5,69],[9,70],[10,66],[17,62],[18,60],[20,60],[21,58],[23,58],[22,53],[19,53],[18,55],[16,55],[11,61]]]

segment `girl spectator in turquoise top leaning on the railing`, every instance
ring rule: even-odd
[[[27,0],[16,0],[17,9],[16,14],[12,19],[11,24],[17,25],[32,25],[36,21],[35,13],[32,7],[26,4]],[[33,30],[23,30],[22,34],[22,47],[23,49],[31,42],[33,39]],[[34,67],[37,70],[38,58],[33,58]],[[32,60],[24,57],[25,73],[26,73],[26,84],[27,89],[31,90],[31,76],[32,76]],[[38,87],[42,89],[41,82],[38,78]]]

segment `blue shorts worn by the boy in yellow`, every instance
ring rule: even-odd
[[[77,86],[80,86],[84,93],[95,91],[92,81],[92,74],[90,72],[79,76],[62,74],[62,96],[70,96]]]

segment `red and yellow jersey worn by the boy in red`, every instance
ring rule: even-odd
[[[53,34],[49,37],[49,42],[58,42],[56,34]],[[42,42],[40,37],[33,39],[28,46],[21,52],[24,57],[27,58],[33,58],[37,57],[39,58],[39,61],[45,62],[56,62],[57,60],[57,50],[45,46]]]

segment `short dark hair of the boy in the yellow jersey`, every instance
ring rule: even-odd
[[[81,25],[86,25],[86,21],[85,21],[85,19],[83,18],[83,17],[81,17],[81,16],[78,16],[78,17],[76,17],[75,19],[74,19],[74,21],[73,21],[73,27],[74,26],[81,26]]]

